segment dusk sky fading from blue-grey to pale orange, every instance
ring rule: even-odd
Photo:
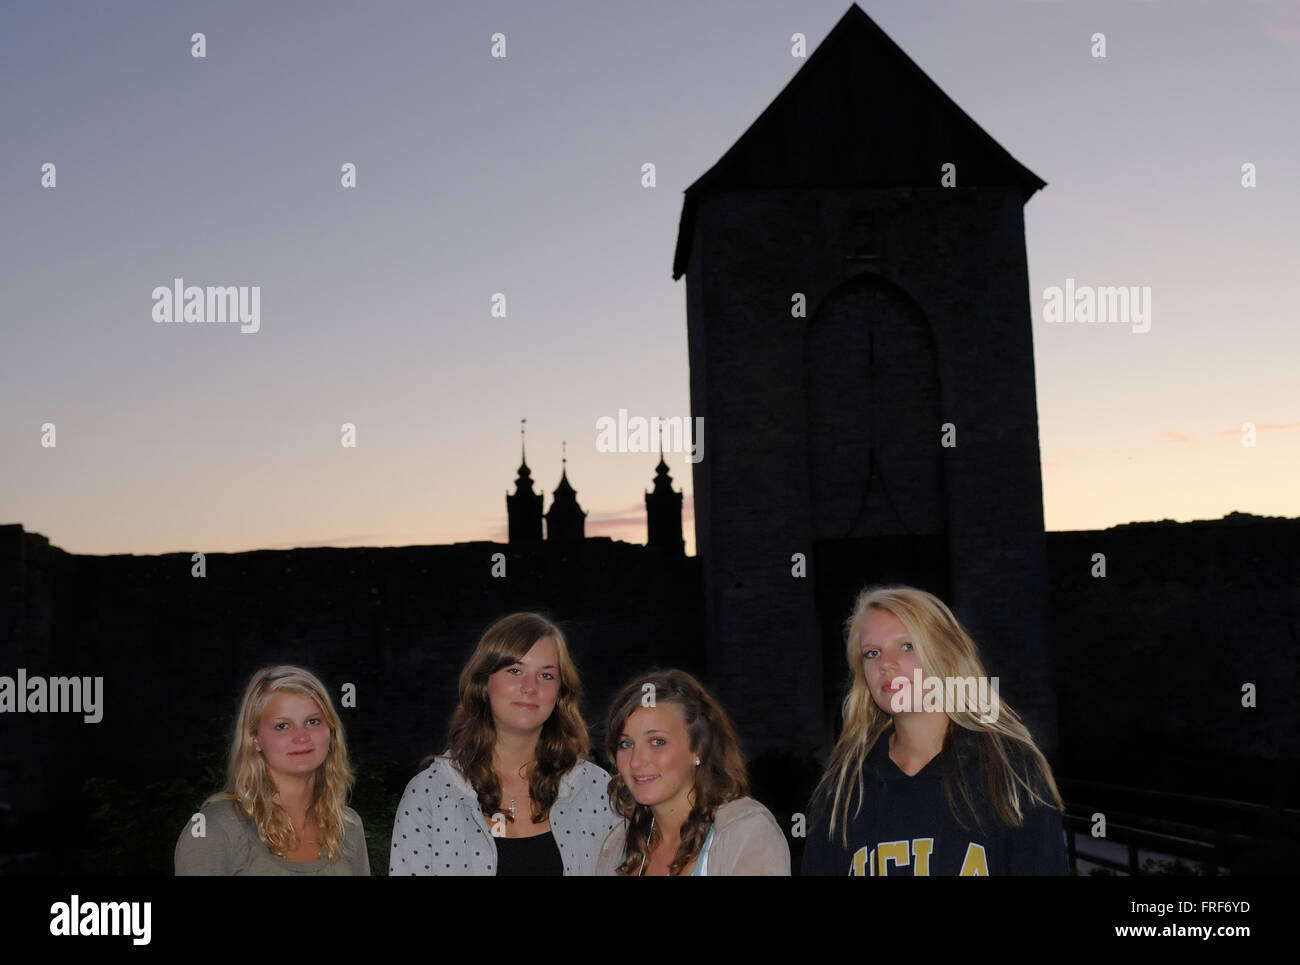
[[[1300,515],[1300,5],[862,7],[1048,182],[1048,528]],[[567,440],[588,535],[644,541],[656,458],[595,420],[689,415],[681,192],[846,9],[6,3],[0,522],[92,554],[504,540],[526,416],[547,505]],[[174,277],[261,286],[261,330],[155,324]],[[1150,332],[1046,324],[1066,278],[1150,286]]]

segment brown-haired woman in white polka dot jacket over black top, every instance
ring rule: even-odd
[[[448,748],[411,779],[393,826],[393,875],[581,875],[616,818],[588,753],[564,635],[517,613],[460,672]]]

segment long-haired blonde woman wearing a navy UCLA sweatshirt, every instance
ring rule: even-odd
[[[846,642],[853,687],[803,874],[1067,874],[1052,769],[952,611],[910,587],[867,589]]]

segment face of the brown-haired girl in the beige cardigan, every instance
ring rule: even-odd
[[[667,805],[672,814],[690,810],[696,787],[696,754],[686,732],[686,718],[672,702],[638,707],[619,735],[615,758],[623,783],[637,804]]]

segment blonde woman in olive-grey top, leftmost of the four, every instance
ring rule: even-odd
[[[365,832],[347,806],[352,769],[325,687],[265,667],[244,691],[226,788],[176,843],[178,875],[368,875]]]

